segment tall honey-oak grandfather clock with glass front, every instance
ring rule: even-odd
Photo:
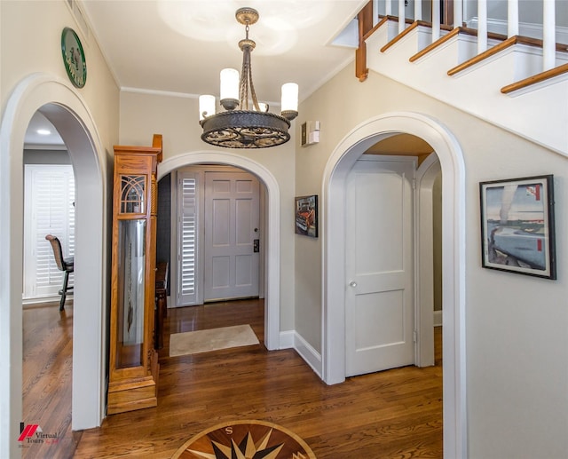
[[[152,146],[114,146],[113,258],[107,413],[157,405],[154,350],[156,170]]]

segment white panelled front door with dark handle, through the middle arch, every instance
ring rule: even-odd
[[[258,296],[259,183],[205,173],[204,301]]]

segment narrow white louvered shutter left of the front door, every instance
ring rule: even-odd
[[[177,305],[196,305],[197,174],[180,172],[177,189]]]

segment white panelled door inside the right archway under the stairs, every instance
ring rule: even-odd
[[[346,376],[414,363],[414,170],[370,156],[347,179]]]

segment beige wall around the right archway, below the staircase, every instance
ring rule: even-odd
[[[454,133],[466,167],[466,330],[472,458],[562,457],[568,450],[568,159],[373,72],[346,67],[300,106],[321,122],[318,145],[296,152],[296,193],[321,193],[327,158],[359,123],[418,112]],[[478,182],[555,175],[558,280],[481,267]],[[322,223],[320,221],[320,223]],[[322,234],[326,228],[321,227]],[[319,349],[321,244],[296,240],[296,331]],[[303,281],[303,278],[309,281]],[[453,305],[445,305],[452,307]]]

